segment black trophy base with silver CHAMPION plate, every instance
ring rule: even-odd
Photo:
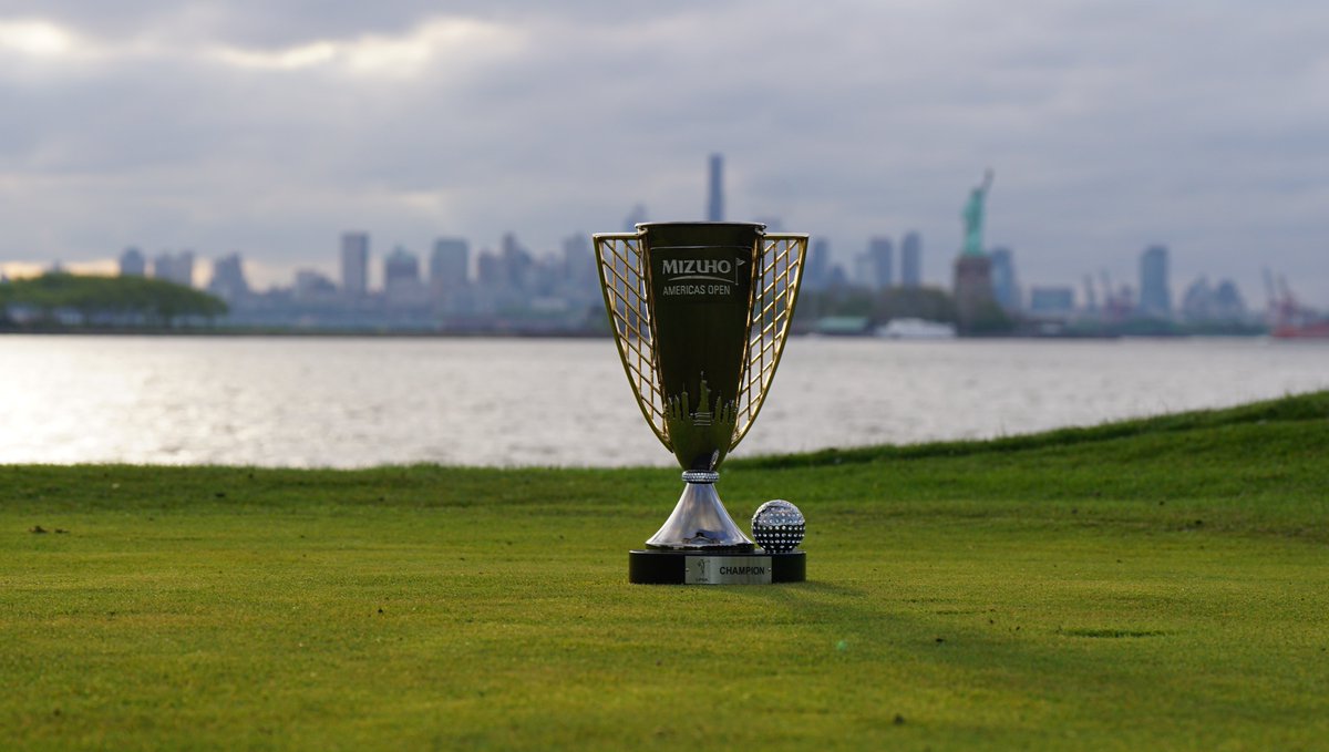
[[[634,585],[772,585],[807,578],[803,551],[627,551],[627,581]]]

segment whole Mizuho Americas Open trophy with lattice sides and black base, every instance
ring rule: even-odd
[[[601,290],[646,423],[683,468],[672,514],[629,553],[629,579],[769,583],[805,578],[803,551],[759,551],[715,492],[779,365],[808,236],[742,222],[646,222],[597,234]]]

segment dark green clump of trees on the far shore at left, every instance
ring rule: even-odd
[[[174,327],[226,314],[219,298],[161,279],[48,272],[0,283],[7,327]]]

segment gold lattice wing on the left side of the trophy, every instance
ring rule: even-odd
[[[666,448],[674,449],[664,423],[664,392],[657,379],[655,332],[646,306],[646,259],[637,233],[595,235],[601,291],[614,327],[618,355],[627,371],[646,423]]]

